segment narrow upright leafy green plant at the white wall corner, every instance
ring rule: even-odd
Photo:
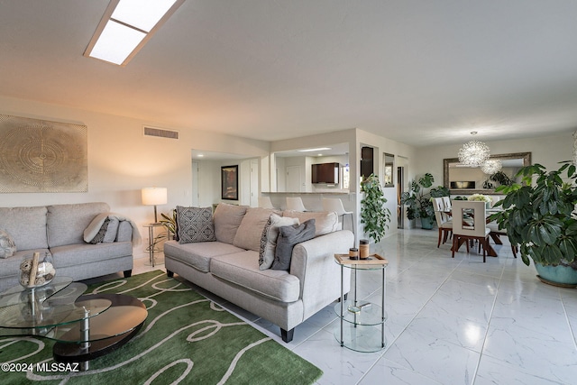
[[[374,174],[362,181],[361,188],[364,192],[361,201],[361,223],[364,225],[364,232],[375,242],[379,242],[389,228],[390,210],[385,207],[387,199],[380,187],[379,178]]]

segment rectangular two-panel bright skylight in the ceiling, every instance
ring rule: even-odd
[[[125,66],[184,1],[111,1],[84,56]]]

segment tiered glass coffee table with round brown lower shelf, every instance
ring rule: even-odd
[[[55,277],[41,288],[17,286],[0,293],[0,335],[38,335],[57,341],[57,362],[88,362],[136,335],[148,316],[137,298],[83,295],[87,285]]]

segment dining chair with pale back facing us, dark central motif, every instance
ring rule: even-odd
[[[490,249],[490,229],[486,223],[485,208],[485,202],[453,201],[453,258],[454,252],[458,251],[463,243],[467,244],[469,252],[469,241],[476,240],[483,249],[483,263],[486,261],[487,251]]]

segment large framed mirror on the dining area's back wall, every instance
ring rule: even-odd
[[[453,195],[495,194],[495,188],[511,182],[519,182],[515,174],[521,167],[531,165],[531,152],[515,152],[491,155],[490,160],[501,160],[501,170],[486,174],[481,167],[468,167],[458,158],[443,160],[444,187]]]

